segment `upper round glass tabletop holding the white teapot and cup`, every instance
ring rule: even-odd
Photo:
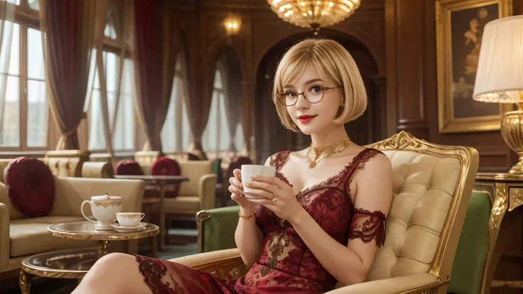
[[[66,239],[111,241],[142,239],[155,236],[158,234],[159,228],[156,224],[146,224],[146,226],[141,229],[129,232],[101,231],[95,229],[95,224],[92,222],[85,221],[51,224],[48,227],[48,232],[52,236]]]

